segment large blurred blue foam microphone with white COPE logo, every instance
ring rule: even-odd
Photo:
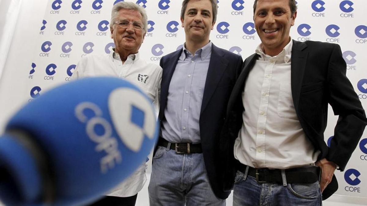
[[[146,159],[158,126],[149,98],[128,81],[85,78],[26,104],[0,136],[6,205],[84,205]]]

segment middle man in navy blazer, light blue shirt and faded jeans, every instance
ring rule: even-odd
[[[219,135],[242,58],[209,40],[217,0],[184,0],[182,49],[163,56],[160,139],[149,183],[151,205],[225,205]]]

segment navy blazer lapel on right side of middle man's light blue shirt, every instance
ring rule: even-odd
[[[223,58],[224,52],[222,52],[214,44],[212,44],[211,47],[211,56],[207,78],[205,81],[203,100],[201,102],[200,114],[203,113],[205,107],[209,103],[211,96],[217,88],[217,85],[228,66],[228,61]]]

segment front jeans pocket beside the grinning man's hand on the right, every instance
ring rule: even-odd
[[[319,182],[311,184],[288,184],[287,188],[299,198],[316,199],[321,195]]]

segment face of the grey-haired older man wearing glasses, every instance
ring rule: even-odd
[[[116,22],[139,22],[142,24],[142,16],[136,10],[121,9],[115,19]],[[121,27],[116,22],[111,28],[111,38],[115,43],[115,52],[118,54],[136,54],[144,40],[143,29],[136,29],[132,23],[127,27]]]

